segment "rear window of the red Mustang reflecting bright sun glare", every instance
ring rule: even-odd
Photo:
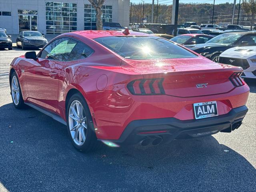
[[[153,36],[111,36],[94,40],[120,56],[129,59],[197,57],[164,38]]]

